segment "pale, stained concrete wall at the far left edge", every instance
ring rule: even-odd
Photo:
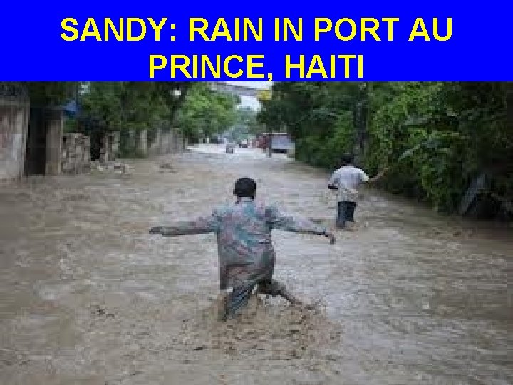
[[[0,180],[24,175],[28,103],[0,99]]]

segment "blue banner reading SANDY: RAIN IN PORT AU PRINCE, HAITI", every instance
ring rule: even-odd
[[[1,81],[513,81],[511,1],[2,5]]]

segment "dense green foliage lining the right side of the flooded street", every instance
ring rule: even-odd
[[[296,158],[334,168],[356,153],[383,187],[453,212],[485,173],[492,196],[513,199],[508,83],[276,83],[259,120],[285,125]]]

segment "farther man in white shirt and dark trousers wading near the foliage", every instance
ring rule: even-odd
[[[339,229],[346,227],[346,222],[354,223],[354,210],[358,205],[361,183],[373,183],[385,175],[385,168],[374,178],[369,178],[361,168],[353,166],[353,156],[343,155],[342,167],[338,168],[328,182],[330,190],[337,190],[337,212],[335,226]]]

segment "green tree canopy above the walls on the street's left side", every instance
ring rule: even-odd
[[[207,83],[192,82],[90,82],[79,98],[78,125],[71,130],[96,137],[120,131],[120,153],[137,156],[128,130],[178,128],[194,142],[221,132],[234,119],[238,99],[212,91]]]

